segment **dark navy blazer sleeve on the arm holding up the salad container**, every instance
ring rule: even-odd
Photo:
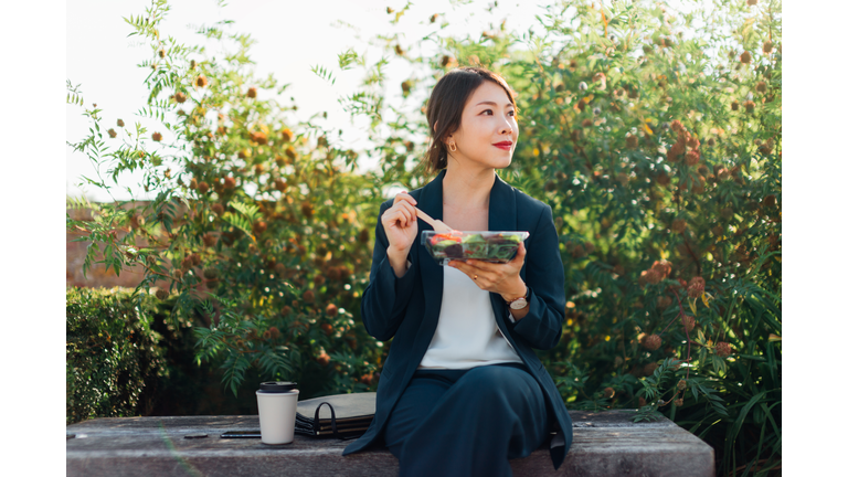
[[[524,258],[529,310],[513,330],[531,347],[549,350],[560,341],[565,318],[565,272],[550,205],[544,204],[531,234]]]

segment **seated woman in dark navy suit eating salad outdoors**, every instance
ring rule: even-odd
[[[485,68],[447,73],[427,103],[427,186],[380,206],[362,320],[393,338],[368,432],[343,455],[385,444],[401,476],[510,476],[508,459],[550,448],[559,468],[571,418],[532,348],[562,333],[564,273],[551,208],[496,173],[518,140],[507,83]],[[456,230],[528,231],[506,264],[439,266],[416,208]]]

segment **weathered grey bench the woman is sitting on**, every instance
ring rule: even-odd
[[[559,470],[547,448],[510,460],[520,476],[714,476],[713,451],[662,418],[630,422],[632,411],[571,412],[574,444]],[[373,476],[398,475],[385,448],[342,457],[350,443],[296,435],[284,446],[221,438],[258,430],[258,416],[108,417],[67,426],[67,476]],[[186,438],[206,434],[204,438]]]

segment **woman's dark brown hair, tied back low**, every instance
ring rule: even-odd
[[[459,129],[465,104],[483,82],[490,81],[502,87],[509,102],[516,106],[512,89],[506,80],[484,67],[464,66],[449,71],[436,83],[427,102],[427,124],[432,144],[427,148],[427,172],[433,173],[447,167],[447,146],[442,139]],[[434,125],[438,123],[438,129]]]

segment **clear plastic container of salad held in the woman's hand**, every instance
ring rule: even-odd
[[[507,263],[518,253],[518,244],[528,236],[529,232],[423,231],[421,243],[439,265],[469,258]]]

